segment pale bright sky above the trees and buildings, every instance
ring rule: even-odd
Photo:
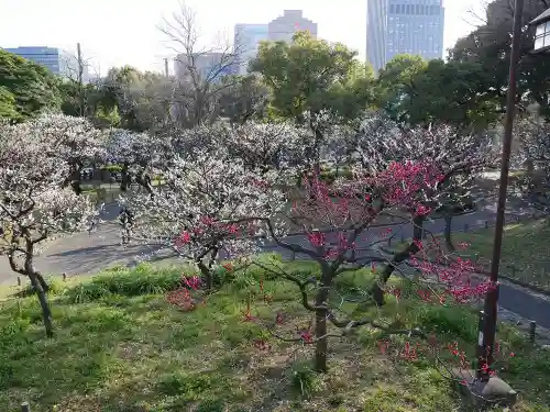
[[[444,47],[472,31],[469,14],[481,0],[443,0]],[[301,9],[318,23],[319,37],[342,42],[365,56],[366,0],[187,0],[197,12],[202,42],[217,33],[232,36],[235,23],[267,23],[284,9]],[[105,75],[129,64],[161,70],[173,52],[157,30],[163,16],[177,10],[177,0],[0,0],[0,47],[51,46],[75,49]]]

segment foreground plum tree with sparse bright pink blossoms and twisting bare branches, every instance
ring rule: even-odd
[[[304,186],[311,193],[310,201],[295,204],[287,219],[302,226],[306,242],[284,238],[277,234],[270,218],[261,218],[267,227],[271,238],[283,249],[306,256],[318,265],[318,275],[304,278],[292,274],[277,263],[255,264],[273,276],[287,279],[299,289],[304,308],[315,318],[314,329],[298,330],[297,336],[283,336],[286,341],[315,344],[315,368],[318,371],[328,369],[327,354],[329,337],[341,337],[352,330],[369,325],[386,334],[425,336],[420,329],[403,330],[377,319],[375,315],[353,318],[349,311],[342,310],[350,304],[360,308],[363,304],[380,303],[378,297],[370,291],[362,291],[359,298],[350,299],[341,294],[338,280],[346,272],[354,272],[364,267],[391,267],[392,271],[400,271],[404,260],[388,258],[381,253],[378,246],[388,236],[388,230],[376,231],[376,223],[384,215],[394,215],[400,209],[410,211],[414,218],[426,216],[430,209],[424,203],[424,193],[438,190],[446,175],[439,165],[429,160],[403,160],[389,163],[386,169],[376,174],[358,171],[355,179],[337,181],[329,187],[314,179],[306,180]],[[338,186],[338,197],[331,194]],[[422,242],[416,241],[418,250]],[[441,301],[450,296],[457,301],[484,294],[493,286],[490,282],[474,283],[471,275],[475,267],[471,261],[448,261],[449,266],[427,265],[417,260],[414,265],[420,276],[416,280],[419,290]],[[382,276],[386,269],[382,271]],[[399,299],[400,291],[385,285],[384,278],[377,282],[382,301],[384,294],[392,293]],[[361,312],[361,311],[360,311]],[[249,314],[250,318],[250,314]],[[275,322],[266,324],[268,330],[280,337],[277,327],[284,322],[277,315]],[[329,324],[331,325],[329,327]]]

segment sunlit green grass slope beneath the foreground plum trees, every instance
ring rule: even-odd
[[[316,275],[311,263],[288,264],[288,269],[296,276]],[[332,338],[330,372],[314,374],[309,347],[284,343],[243,322],[249,297],[255,316],[272,319],[280,310],[293,322],[310,319],[294,285],[260,269],[235,275],[206,305],[180,312],[164,292],[177,286],[183,270],[189,271],[141,266],[56,286],[50,296],[56,327],[52,339],[44,337],[35,297],[1,302],[2,410],[16,411],[23,401],[33,411],[58,412],[472,410],[461,405],[433,364],[391,360],[377,348],[378,334],[366,327],[345,339]],[[273,296],[270,305],[258,292],[260,279]],[[352,293],[372,281],[363,270],[345,276],[338,288]],[[406,285],[402,287],[405,293]],[[472,310],[407,298],[375,312],[365,307],[356,314],[420,324],[442,343],[457,341],[464,348],[473,349],[476,341]],[[258,337],[272,345],[267,353],[253,346]],[[498,337],[517,354],[502,374],[521,393],[514,411],[550,411],[550,352],[529,347],[505,326]]]

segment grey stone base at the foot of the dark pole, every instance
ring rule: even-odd
[[[476,407],[499,404],[512,407],[517,401],[517,392],[498,377],[491,377],[487,381],[475,378],[475,370],[453,369],[453,377],[460,385],[461,392]]]

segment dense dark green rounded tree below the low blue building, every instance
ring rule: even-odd
[[[0,49],[0,116],[19,121],[58,109],[57,86],[47,68]]]

